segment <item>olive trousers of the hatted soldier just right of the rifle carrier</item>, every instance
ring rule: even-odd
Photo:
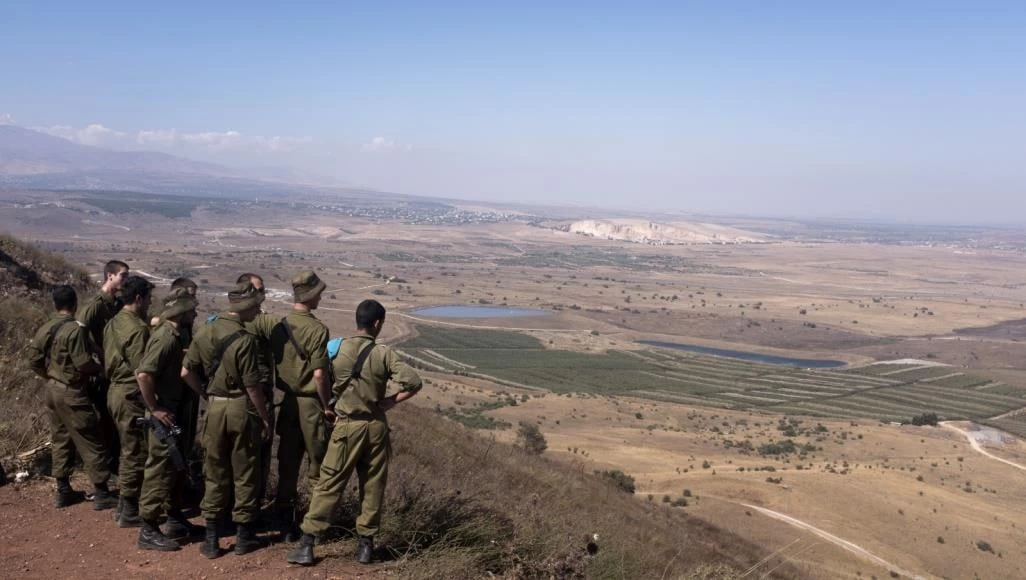
[[[235,505],[232,520],[252,524],[260,509],[256,493],[261,473],[260,416],[246,395],[234,398],[210,396],[203,427],[205,493],[200,510],[215,519],[228,505],[232,490]]]

